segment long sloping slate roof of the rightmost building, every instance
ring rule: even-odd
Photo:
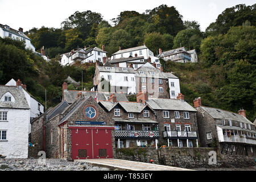
[[[214,119],[227,119],[227,120],[238,121],[238,122],[253,125],[253,123],[250,122],[249,119],[243,117],[240,114],[232,113],[230,111],[217,109],[217,108],[213,108],[213,107],[205,107],[205,106],[200,106],[200,107],[203,110],[205,110]]]

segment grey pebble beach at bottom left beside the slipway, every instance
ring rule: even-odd
[[[61,159],[0,159],[0,171],[109,171],[109,168],[92,166],[85,162],[67,162]]]

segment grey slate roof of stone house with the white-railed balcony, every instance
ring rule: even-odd
[[[146,103],[154,110],[197,111],[187,102],[176,99],[152,98]]]

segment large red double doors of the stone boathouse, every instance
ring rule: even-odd
[[[113,158],[113,127],[70,127],[72,159]]]

